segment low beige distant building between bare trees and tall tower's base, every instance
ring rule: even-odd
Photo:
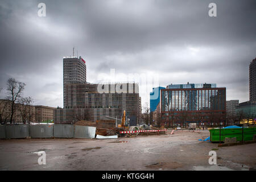
[[[53,120],[53,111],[55,109],[55,107],[49,106],[35,106],[35,121],[44,122]]]

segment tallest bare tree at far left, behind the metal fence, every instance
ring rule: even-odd
[[[20,98],[26,84],[18,82],[14,78],[7,80],[7,99],[11,101],[11,117],[10,123],[13,122],[13,115],[15,112],[15,102]]]

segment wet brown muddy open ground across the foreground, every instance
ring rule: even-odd
[[[217,147],[209,131],[118,139],[0,140],[0,170],[255,170],[256,143]],[[122,142],[125,141],[125,142]],[[210,165],[209,151],[217,153]],[[46,165],[37,154],[46,152]]]

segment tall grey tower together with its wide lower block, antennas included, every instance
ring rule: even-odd
[[[79,120],[139,116],[141,102],[139,85],[135,82],[90,84],[86,82],[86,64],[81,56],[63,57],[63,109],[55,109],[55,123],[75,123]]]

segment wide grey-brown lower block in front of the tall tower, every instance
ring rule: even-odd
[[[104,93],[98,90],[98,88],[102,89],[106,86],[109,89],[103,89]],[[118,87],[121,87],[122,93],[118,93],[118,89],[116,89]],[[110,88],[115,89],[111,90]],[[109,119],[105,116],[121,118],[123,110],[126,110],[127,115],[138,117],[140,114],[139,86],[134,82],[66,84],[65,90],[64,109],[55,110],[55,123]]]

